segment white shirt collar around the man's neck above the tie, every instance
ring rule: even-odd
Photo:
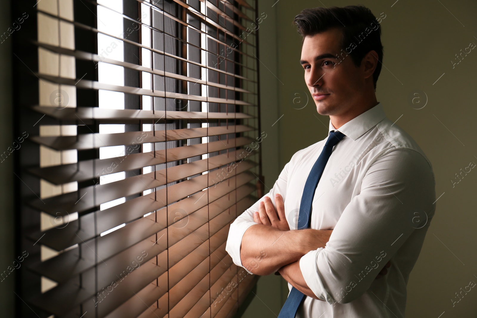
[[[361,137],[363,133],[366,133],[368,130],[373,128],[374,125],[381,122],[384,118],[386,118],[386,114],[384,113],[383,105],[380,102],[373,108],[368,109],[366,112],[343,124],[338,129],[333,127],[330,119],[328,135],[332,130],[338,130],[347,137],[356,140]]]

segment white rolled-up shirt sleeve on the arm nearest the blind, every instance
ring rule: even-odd
[[[286,195],[287,195],[288,171],[290,169],[290,165],[295,155],[293,155],[290,162],[285,164],[285,167],[282,169],[277,181],[275,182],[275,185],[273,185],[269,193],[267,193],[266,195],[263,195],[257,202],[255,202],[255,204],[250,206],[249,209],[245,210],[245,212],[239,215],[235,219],[235,221],[230,225],[225,250],[232,257],[232,260],[235,265],[243,267],[242,260],[240,259],[240,247],[242,245],[242,237],[245,231],[247,231],[247,229],[250,226],[257,224],[253,220],[253,214],[259,211],[260,202],[264,200],[265,196],[268,196],[270,197],[271,202],[273,206],[275,207],[275,209],[277,209],[277,206],[275,205],[275,199],[274,199],[275,194],[277,193],[282,196],[283,202],[285,202]],[[245,268],[245,269],[247,270],[247,272],[249,272],[249,274],[253,274],[252,272],[249,271],[248,268]]]

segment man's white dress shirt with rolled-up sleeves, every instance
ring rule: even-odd
[[[305,297],[296,317],[402,318],[409,273],[436,209],[431,163],[386,117],[381,103],[337,130],[345,136],[333,147],[311,210],[311,228],[333,232],[325,248],[300,259],[308,287],[326,301]],[[305,182],[327,138],[296,152],[266,194],[275,208],[275,194],[282,195],[291,230],[297,228]],[[230,225],[226,250],[237,266],[242,267],[242,236],[256,224],[253,213],[264,197]],[[388,273],[375,279],[389,260]]]

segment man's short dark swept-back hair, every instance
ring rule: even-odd
[[[331,8],[304,9],[298,14],[293,23],[296,24],[298,33],[302,36],[301,43],[305,37],[313,36],[317,33],[338,28],[342,31],[341,49],[349,54],[356,67],[361,65],[364,55],[369,51],[378,53],[379,63],[373,73],[374,90],[383,63],[383,45],[381,44],[381,24],[373,15],[371,10],[364,6],[346,6]],[[376,29],[372,24],[378,26]],[[366,32],[370,29],[370,32]],[[346,51],[354,43],[351,52]]]

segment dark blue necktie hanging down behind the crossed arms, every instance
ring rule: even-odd
[[[318,181],[320,181],[326,163],[331,156],[333,147],[338,144],[343,137],[343,133],[332,130],[326,140],[326,144],[323,146],[320,156],[311,168],[310,174],[305,183],[305,188],[303,189],[303,195],[301,195],[300,212],[298,214],[298,229],[310,227],[311,203],[313,202],[316,186],[318,185]],[[281,308],[278,318],[295,318],[297,309],[304,299],[305,295],[295,287],[292,287],[290,295],[288,295],[285,304]]]

